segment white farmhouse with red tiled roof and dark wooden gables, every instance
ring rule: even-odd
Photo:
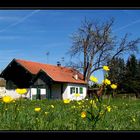
[[[2,71],[0,77],[6,80],[6,93],[14,98],[19,95],[16,88],[26,88],[24,95],[30,99],[84,99],[87,83],[83,75],[72,68],[13,59]],[[80,93],[75,97],[75,93]]]

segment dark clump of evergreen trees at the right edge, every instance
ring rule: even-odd
[[[124,59],[115,58],[108,65],[110,65],[109,79],[112,83],[117,83],[117,92],[135,93],[136,97],[140,97],[140,60],[138,61],[132,54],[126,64]]]

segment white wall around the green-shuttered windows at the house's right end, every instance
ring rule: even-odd
[[[65,84],[64,87],[65,87],[65,90],[64,90],[63,95],[62,95],[63,99],[82,100],[82,99],[84,99],[86,97],[86,94],[87,94],[87,86],[86,85],[82,85],[82,84]],[[78,88],[78,89],[80,87],[82,87],[83,88],[83,94],[80,94],[79,97],[75,97],[74,93],[73,94],[70,93],[70,88],[71,87],[75,87],[75,88]]]

